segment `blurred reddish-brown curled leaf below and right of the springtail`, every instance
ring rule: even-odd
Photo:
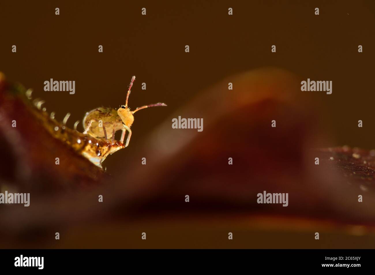
[[[375,154],[314,149],[330,135],[298,91],[275,68],[224,79],[108,175],[49,136],[1,77],[0,188],[30,193],[30,207],[1,205],[1,248],[374,248]],[[172,129],[178,116],[202,117],[204,131]],[[289,193],[288,207],[257,204],[264,190]]]

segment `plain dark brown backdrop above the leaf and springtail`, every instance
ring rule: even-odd
[[[373,1],[9,1],[0,4],[0,23],[0,71],[33,88],[34,98],[45,99],[58,119],[71,112],[70,126],[95,107],[124,104],[132,75],[130,107],[168,104],[136,113],[131,146],[104,163],[112,174],[153,125],[202,89],[263,66],[290,70],[301,81],[333,81],[331,95],[290,91],[301,102],[320,104],[317,119],[326,117],[334,140],[320,146],[375,147]],[[75,94],[43,91],[50,78],[75,80]],[[357,127],[359,119],[363,128]]]

